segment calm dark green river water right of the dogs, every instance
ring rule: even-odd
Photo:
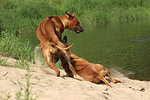
[[[75,43],[74,54],[129,78],[150,80],[150,20],[81,26],[85,31],[80,34],[70,30],[62,34],[68,36],[69,45]]]

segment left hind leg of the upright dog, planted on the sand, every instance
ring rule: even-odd
[[[47,65],[53,69],[57,76],[59,77],[60,76],[60,71],[55,67],[55,65],[53,64],[53,55],[50,53],[50,50],[49,49],[45,49],[44,47],[42,48],[42,51],[43,51],[43,56],[47,62]]]

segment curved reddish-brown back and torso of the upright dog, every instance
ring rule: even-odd
[[[40,42],[44,45],[45,42],[54,43],[55,45],[59,45],[62,47],[61,37],[57,34],[60,32],[63,32],[62,22],[57,17],[49,17],[44,19],[41,24],[37,28],[37,37],[40,40]]]

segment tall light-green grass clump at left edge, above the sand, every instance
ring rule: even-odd
[[[29,41],[20,42],[19,38],[13,33],[2,32],[0,37],[0,54],[10,56],[19,60],[34,61],[32,47]]]

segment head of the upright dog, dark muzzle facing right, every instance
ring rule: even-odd
[[[68,14],[67,12],[65,12],[68,21],[69,21],[69,25],[68,28],[72,31],[75,31],[76,33],[80,33],[83,32],[84,29],[80,26],[80,23],[78,21],[78,19],[75,17],[75,13],[73,14]]]

